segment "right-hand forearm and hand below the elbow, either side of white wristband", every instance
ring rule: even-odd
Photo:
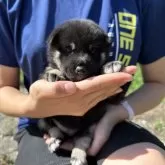
[[[140,114],[158,105],[164,96],[164,86],[157,83],[146,83],[126,100],[132,106],[135,114]],[[110,105],[107,113],[97,123],[89,154],[96,155],[108,140],[115,125],[125,119],[128,119],[128,113],[122,105]]]

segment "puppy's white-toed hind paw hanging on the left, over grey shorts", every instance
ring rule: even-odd
[[[53,153],[55,152],[61,144],[61,140],[51,137],[48,142],[48,150]]]

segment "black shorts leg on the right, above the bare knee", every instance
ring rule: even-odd
[[[153,143],[165,150],[164,144],[148,130],[133,122],[122,122],[114,128],[109,140],[97,155],[98,164],[101,165],[105,158],[123,147],[143,142]]]

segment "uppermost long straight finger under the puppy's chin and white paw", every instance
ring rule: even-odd
[[[93,91],[101,90],[110,85],[121,86],[129,81],[132,81],[132,75],[124,72],[118,72],[85,79],[83,81],[76,82],[76,86],[79,90],[90,93]]]

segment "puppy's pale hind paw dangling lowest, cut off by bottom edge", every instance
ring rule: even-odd
[[[72,150],[71,165],[88,165],[86,161],[86,152],[80,148],[74,148]]]

